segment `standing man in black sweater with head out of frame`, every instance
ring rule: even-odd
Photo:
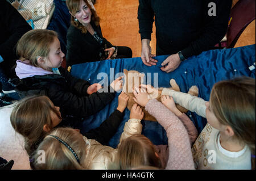
[[[152,66],[158,62],[150,47],[154,20],[156,56],[170,54],[160,68],[169,73],[187,58],[212,49],[223,39],[231,6],[232,0],[139,0],[143,64]]]

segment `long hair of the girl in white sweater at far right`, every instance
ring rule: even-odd
[[[210,93],[210,108],[221,124],[232,127],[234,138],[245,142],[255,155],[255,79],[217,82]]]

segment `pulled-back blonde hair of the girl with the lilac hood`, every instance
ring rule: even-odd
[[[48,57],[55,38],[57,33],[52,30],[30,30],[19,39],[16,54],[20,61],[30,60],[33,66],[39,67],[37,57]]]

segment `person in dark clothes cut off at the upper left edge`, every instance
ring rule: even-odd
[[[0,104],[5,106],[19,99],[15,93],[16,75],[14,71],[15,45],[24,33],[32,28],[19,12],[7,1],[0,1]]]

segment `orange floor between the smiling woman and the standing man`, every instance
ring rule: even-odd
[[[94,5],[101,18],[103,36],[113,45],[127,46],[133,57],[141,57],[141,35],[138,23],[138,0],[96,0]],[[155,54],[155,27],[151,48]]]

